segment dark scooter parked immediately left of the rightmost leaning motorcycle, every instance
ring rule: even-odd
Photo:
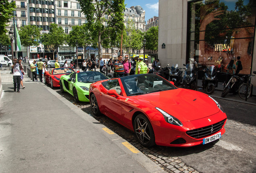
[[[214,65],[207,66],[206,69],[204,69],[204,77],[202,80],[202,87],[203,89],[206,89],[207,94],[213,94],[215,91],[215,87],[218,87],[218,78],[217,74],[220,72],[217,70]]]

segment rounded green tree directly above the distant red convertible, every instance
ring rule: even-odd
[[[50,25],[50,32],[43,34],[41,40],[44,46],[53,47],[53,55],[56,51],[58,58],[58,47],[62,46],[66,42],[66,34],[61,26],[58,27],[57,24],[52,23]]]

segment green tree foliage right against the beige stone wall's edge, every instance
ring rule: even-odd
[[[158,50],[158,26],[152,26],[145,33],[146,49]]]

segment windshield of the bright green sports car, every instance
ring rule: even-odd
[[[108,79],[108,77],[102,74],[101,72],[89,71],[77,73],[78,82],[93,83],[105,79]]]

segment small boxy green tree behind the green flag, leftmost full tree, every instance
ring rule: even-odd
[[[21,39],[21,45],[25,47],[38,46],[38,40],[41,36],[40,31],[42,28],[38,28],[35,25],[26,25],[19,30],[19,36]],[[30,52],[28,52],[28,55]]]

